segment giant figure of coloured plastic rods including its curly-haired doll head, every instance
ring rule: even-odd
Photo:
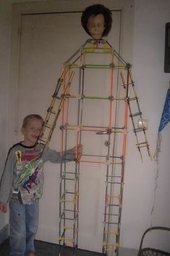
[[[119,254],[129,117],[141,159],[143,148],[150,156],[131,65],[103,39],[111,29],[111,22],[111,11],[101,4],[82,12],[82,27],[92,39],[64,63],[38,141],[44,144],[44,150],[61,116],[61,152],[73,138],[77,145],[83,144],[82,158],[76,157],[74,167],[67,161],[61,162],[61,255],[67,246],[78,247],[80,169],[84,167],[86,170],[95,167],[105,173],[103,254]],[[137,127],[138,119],[142,120],[142,127]]]

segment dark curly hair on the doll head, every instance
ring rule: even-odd
[[[88,19],[90,17],[95,17],[96,15],[103,15],[105,21],[105,29],[102,36],[107,36],[111,30],[112,17],[110,9],[105,7],[103,4],[93,4],[85,8],[81,17],[82,27],[85,29],[86,33],[91,36],[90,32],[88,31]]]

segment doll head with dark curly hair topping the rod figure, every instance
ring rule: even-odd
[[[82,12],[81,22],[88,35],[101,39],[111,30],[111,11],[102,4],[93,4]]]

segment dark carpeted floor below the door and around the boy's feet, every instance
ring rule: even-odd
[[[62,249],[57,244],[47,243],[45,241],[35,240],[35,256],[101,256],[98,252],[89,252],[81,249]],[[9,256],[9,240],[4,241],[0,245],[0,255]]]

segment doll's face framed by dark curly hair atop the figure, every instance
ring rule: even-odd
[[[101,39],[105,29],[104,16],[102,14],[90,16],[87,28],[93,39]]]

